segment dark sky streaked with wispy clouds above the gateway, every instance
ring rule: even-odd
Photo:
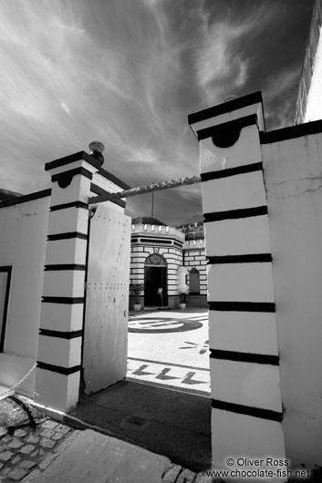
[[[50,187],[47,161],[93,139],[130,186],[198,174],[192,112],[262,90],[292,124],[313,0],[1,0],[0,188]],[[88,151],[89,152],[89,151]],[[151,194],[128,200],[151,215]],[[202,219],[201,187],[156,192],[154,216]]]

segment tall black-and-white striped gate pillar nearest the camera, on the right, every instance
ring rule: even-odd
[[[285,458],[261,93],[194,113],[189,123],[200,141],[213,467],[225,468],[227,457]]]

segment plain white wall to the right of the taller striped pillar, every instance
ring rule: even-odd
[[[262,145],[286,456],[322,465],[322,134]]]

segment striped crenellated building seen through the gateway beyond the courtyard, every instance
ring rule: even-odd
[[[182,283],[187,305],[206,307],[206,264],[202,221],[171,227],[151,217],[132,220],[130,283],[144,283],[144,307],[178,307]]]

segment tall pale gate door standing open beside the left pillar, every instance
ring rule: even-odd
[[[109,205],[100,204],[90,221],[83,346],[86,394],[124,379],[127,370],[130,217]]]

